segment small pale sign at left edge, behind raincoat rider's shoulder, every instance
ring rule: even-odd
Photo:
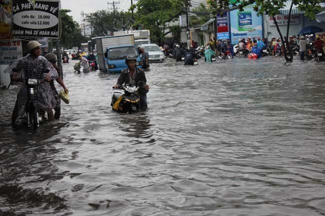
[[[0,40],[0,64],[12,64],[21,57],[20,40]]]

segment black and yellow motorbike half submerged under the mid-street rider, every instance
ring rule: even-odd
[[[139,89],[135,85],[125,85],[122,89],[113,89],[111,106],[116,112],[133,114],[139,111],[140,98],[135,92]]]

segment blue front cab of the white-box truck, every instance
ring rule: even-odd
[[[108,46],[106,49],[107,57],[105,58],[109,73],[120,72],[127,68],[125,59],[127,55],[135,55],[136,66],[140,67],[140,55],[134,45],[122,44]]]

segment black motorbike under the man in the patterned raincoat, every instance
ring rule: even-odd
[[[13,68],[12,71],[19,72],[19,70],[16,68]],[[46,69],[43,72],[48,73],[49,71]],[[20,117],[23,124],[27,124],[28,128],[36,130],[37,127],[39,127],[39,106],[36,100],[36,95],[39,84],[45,82],[45,80],[18,78],[15,81],[22,82],[27,86],[27,102],[23,107],[21,107],[20,110],[17,110],[18,117]],[[10,85],[8,88],[9,87]]]

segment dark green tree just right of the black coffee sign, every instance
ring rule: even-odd
[[[72,16],[67,13],[69,9],[61,9],[61,36],[60,43],[64,48],[71,48],[72,46],[80,46],[80,43],[85,41],[81,35],[79,24],[73,20]]]

